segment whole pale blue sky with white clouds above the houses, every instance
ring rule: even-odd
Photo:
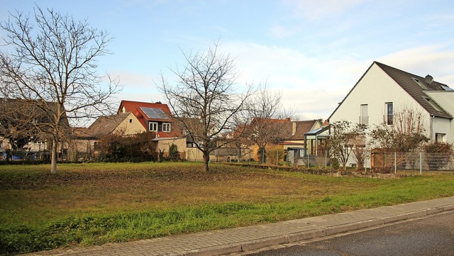
[[[238,87],[266,82],[294,120],[328,118],[374,61],[454,87],[452,0],[0,0],[0,22],[35,3],[114,36],[97,72],[118,77],[118,105],[165,103],[160,74],[217,41]]]

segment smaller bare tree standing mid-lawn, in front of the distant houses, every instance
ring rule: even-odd
[[[204,156],[204,170],[209,172],[210,152],[237,140],[238,118],[247,110],[246,100],[252,86],[238,91],[238,74],[233,60],[218,52],[218,43],[204,52],[185,53],[183,69],[171,69],[176,84],[169,84],[163,75],[157,87],[182,129]]]

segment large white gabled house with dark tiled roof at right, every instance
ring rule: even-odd
[[[454,142],[454,91],[433,77],[420,77],[373,62],[328,118],[329,123],[350,121],[371,128],[393,124],[394,113],[410,108],[422,114],[431,141]]]

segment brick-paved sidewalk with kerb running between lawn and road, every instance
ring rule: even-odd
[[[225,255],[454,211],[454,197],[165,238],[28,255]]]

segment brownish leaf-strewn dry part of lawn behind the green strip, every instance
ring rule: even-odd
[[[382,184],[227,165],[212,169],[205,173],[198,163],[109,163],[60,165],[57,175],[48,174],[46,166],[9,170],[10,175],[4,171],[0,194],[6,201],[1,200],[0,222],[43,223],[69,214],[153,211],[232,201],[312,201]]]

